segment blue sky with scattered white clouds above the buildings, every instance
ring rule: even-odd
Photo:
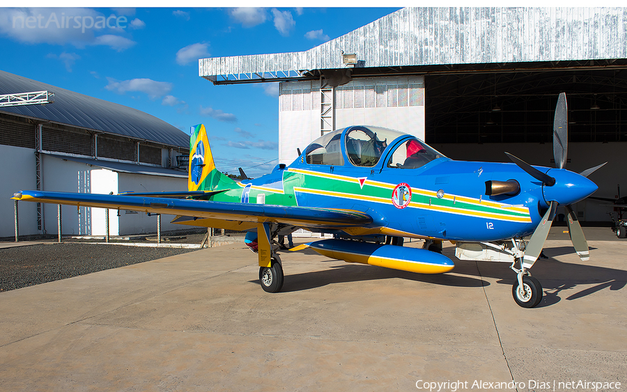
[[[277,164],[251,167],[278,157],[278,85],[213,86],[198,58],[300,52],[396,9],[0,8],[0,68],[185,132],[204,123],[220,170],[258,176]]]

